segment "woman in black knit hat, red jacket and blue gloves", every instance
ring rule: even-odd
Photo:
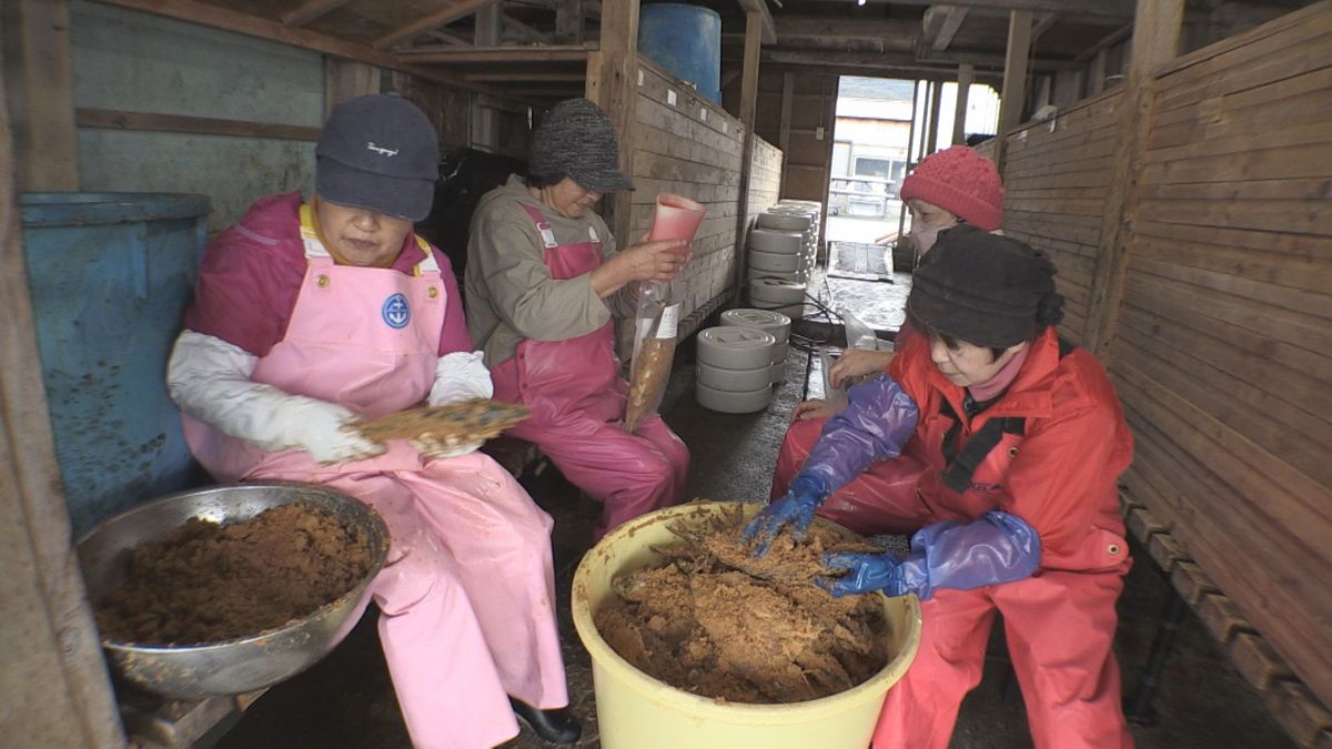
[[[924,335],[851,388],[790,490],[746,529],[759,549],[814,514],[912,533],[906,557],[829,554],[844,574],[821,580],[834,596],[923,601],[920,649],[875,749],[948,746],[996,610],[1036,746],[1132,745],[1111,653],[1130,566],[1116,480],[1132,437],[1100,363],[1056,335],[1054,276],[1020,241],[940,233],[907,299]]]

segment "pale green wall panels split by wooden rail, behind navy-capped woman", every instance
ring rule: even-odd
[[[324,57],[316,52],[92,3],[71,4],[75,105],[320,128]],[[194,192],[209,229],[260,196],[309,192],[314,141],[79,128],[89,192]]]

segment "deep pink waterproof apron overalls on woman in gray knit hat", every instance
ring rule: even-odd
[[[541,212],[523,207],[545,244],[551,279],[574,279],[601,265],[602,245],[561,245]],[[625,432],[625,394],[614,325],[561,341],[525,340],[492,371],[496,398],[526,404],[531,418],[509,434],[537,444],[579,489],[603,505],[594,538],[646,512],[677,504],[685,490],[689,449],[653,414]]]

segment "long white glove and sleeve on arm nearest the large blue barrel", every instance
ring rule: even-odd
[[[250,380],[257,363],[221,339],[182,331],[166,363],[166,389],[190,417],[264,450],[301,449],[322,464],[384,452],[342,430],[356,418],[350,410]]]

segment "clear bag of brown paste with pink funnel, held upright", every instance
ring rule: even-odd
[[[707,208],[681,197],[657,196],[657,212],[647,240],[693,241]],[[625,405],[625,429],[634,432],[666,394],[671,363],[675,359],[675,333],[679,327],[679,280],[670,283],[639,281],[638,312],[634,316],[634,355],[629,369],[629,402]]]

